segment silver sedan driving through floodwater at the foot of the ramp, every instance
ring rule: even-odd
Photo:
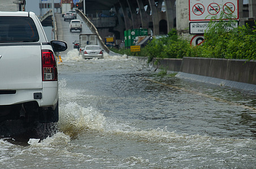
[[[103,59],[103,52],[98,45],[86,45],[83,51],[84,59]]]

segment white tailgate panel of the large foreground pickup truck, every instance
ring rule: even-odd
[[[0,45],[0,90],[42,88],[41,44]]]

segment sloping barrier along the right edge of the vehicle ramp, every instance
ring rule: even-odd
[[[93,23],[88,19],[88,17],[86,17],[84,15],[84,13],[80,10],[76,10],[77,14],[79,14],[83,20],[85,21],[85,23],[87,24],[87,26],[90,28],[90,30],[92,30],[93,33],[97,34],[99,42],[101,43],[103,49],[109,54],[110,50],[109,48],[105,45],[104,41],[102,40],[101,36],[98,33],[97,28],[93,25]]]

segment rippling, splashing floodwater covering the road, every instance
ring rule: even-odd
[[[126,56],[84,60],[71,47],[62,60],[58,132],[0,139],[1,168],[255,168],[255,93]]]

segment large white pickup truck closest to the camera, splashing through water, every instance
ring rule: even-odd
[[[0,122],[58,122],[58,71],[54,52],[33,12],[0,12]]]

